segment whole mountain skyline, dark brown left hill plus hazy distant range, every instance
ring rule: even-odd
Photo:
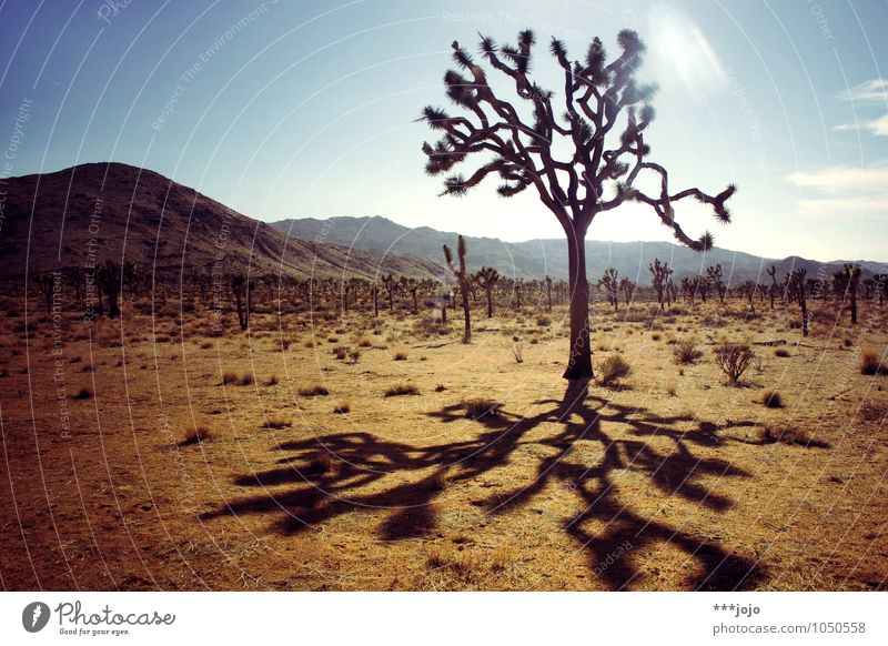
[[[374,277],[394,273],[415,277],[447,275],[442,246],[455,246],[456,233],[428,226],[411,229],[385,218],[312,218],[266,224],[229,209],[153,171],[121,163],[90,163],[62,171],[0,180],[0,279],[34,271],[122,260],[165,275],[210,272],[283,273],[296,277]],[[806,268],[828,276],[842,261],[783,260],[713,249],[698,254],[668,242],[586,242],[589,280],[607,268],[640,284],[650,281],[655,258],[674,277],[697,274],[720,263],[736,284],[767,282]],[[884,263],[858,261],[865,273]],[[468,265],[494,266],[505,276],[567,277],[564,240],[503,242],[468,238]]]

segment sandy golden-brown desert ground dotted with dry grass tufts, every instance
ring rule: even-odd
[[[888,305],[811,306],[804,337],[779,300],[595,303],[599,376],[632,372],[583,396],[563,305],[478,303],[465,345],[458,309],[406,301],[258,305],[219,333],[172,297],[90,324],[8,299],[0,583],[884,589],[888,376],[860,362]],[[738,384],[726,341],[756,355]]]

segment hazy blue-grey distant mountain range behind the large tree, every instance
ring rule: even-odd
[[[455,232],[443,232],[428,226],[410,229],[379,215],[363,218],[313,218],[281,220],[271,224],[276,230],[301,240],[324,240],[334,244],[369,251],[380,255],[401,255],[422,258],[441,262],[442,246],[452,248],[456,242]],[[547,239],[527,242],[503,242],[495,238],[466,236],[468,243],[467,262],[472,270],[482,265],[493,266],[511,277],[553,279],[567,277],[567,249],[564,240]],[[586,264],[589,280],[601,276],[608,268],[615,268],[622,276],[640,284],[650,282],[649,264],[654,259],[669,263],[674,279],[696,275],[716,263],[722,264],[726,280],[737,284],[746,280],[769,282],[765,273],[771,264],[777,266],[777,275],[794,269],[805,268],[808,276],[828,276],[841,269],[846,261],[823,263],[799,256],[781,260],[761,258],[739,251],[714,248],[706,253],[697,253],[686,246],[669,242],[586,242]],[[865,273],[886,271],[885,263],[856,261]]]

